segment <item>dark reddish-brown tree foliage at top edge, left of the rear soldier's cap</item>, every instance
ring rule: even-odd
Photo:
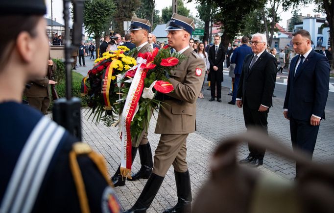
[[[124,35],[123,21],[131,21],[132,16],[140,5],[140,0],[114,0],[114,3],[113,30]]]

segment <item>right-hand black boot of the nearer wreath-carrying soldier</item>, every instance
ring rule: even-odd
[[[191,186],[189,171],[177,172],[174,170],[176,191],[177,191],[177,204],[166,210],[164,213],[191,213]]]

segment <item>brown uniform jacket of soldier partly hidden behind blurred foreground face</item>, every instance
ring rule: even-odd
[[[56,63],[52,65],[52,71],[57,69]],[[48,97],[50,94],[50,87],[48,86],[48,77],[39,80],[29,81],[31,85],[29,89],[24,90],[24,96],[29,98],[42,98]]]

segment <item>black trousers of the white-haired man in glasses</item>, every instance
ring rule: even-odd
[[[260,112],[258,109],[251,109],[247,105],[247,101],[243,103],[243,117],[245,120],[245,125],[246,128],[252,128],[252,127],[257,127],[260,128],[264,133],[268,134],[268,122],[267,122],[267,117],[268,117],[268,112],[269,109]],[[257,148],[256,146],[252,146],[248,144],[248,150],[250,152],[250,156],[254,156],[256,159],[262,160],[265,154],[265,149],[263,148]]]

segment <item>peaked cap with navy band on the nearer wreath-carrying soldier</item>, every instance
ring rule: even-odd
[[[195,29],[195,22],[194,20],[188,17],[174,13],[171,16],[170,21],[166,25],[165,31],[182,30],[182,29],[186,30],[191,34],[192,31]]]

